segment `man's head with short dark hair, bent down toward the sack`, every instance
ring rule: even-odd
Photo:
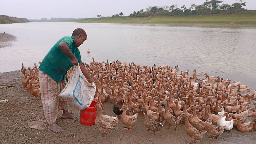
[[[87,39],[87,34],[85,33],[84,29],[82,29],[82,28],[76,28],[73,31],[72,36],[75,39],[76,47],[79,47]]]

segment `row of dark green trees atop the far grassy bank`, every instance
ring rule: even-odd
[[[149,6],[146,11],[141,9],[140,11],[134,11],[129,16],[130,17],[149,17],[149,16],[186,16],[186,15],[206,15],[206,14],[231,14],[239,13],[245,9],[242,6],[245,6],[246,2],[244,0],[236,0],[238,3],[230,4],[221,4],[223,1],[218,0],[206,0],[203,4],[196,5],[191,4],[189,8],[185,5],[182,5],[178,8],[176,5],[171,6]],[[112,17],[118,16],[113,15]]]

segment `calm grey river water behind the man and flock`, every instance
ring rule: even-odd
[[[179,65],[209,76],[232,79],[256,89],[256,28],[222,28],[151,24],[31,22],[1,24],[0,32],[17,36],[0,49],[0,72],[18,70],[42,61],[63,36],[83,28],[88,39],[79,47],[82,61],[134,62],[141,66]],[[90,49],[90,54],[87,50]],[[255,132],[226,132],[225,142],[253,143]],[[230,137],[232,136],[232,137]],[[235,139],[232,139],[233,137]],[[240,141],[241,140],[241,141]],[[243,141],[245,140],[245,141]]]

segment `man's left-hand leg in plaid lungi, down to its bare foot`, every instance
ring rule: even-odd
[[[48,127],[53,132],[63,132],[62,128],[56,124],[59,107],[59,84],[41,70],[39,70],[39,84],[44,108],[44,116],[49,124]]]

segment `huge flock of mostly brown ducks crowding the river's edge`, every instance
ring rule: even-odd
[[[134,62],[92,60],[90,64],[83,64],[96,84],[94,100],[100,105],[96,104],[95,124],[102,133],[112,131],[118,123],[118,115],[126,125],[124,129],[132,131],[138,113],[144,114],[144,125],[153,134],[160,131],[164,123],[169,124],[168,128],[175,126],[175,131],[185,121],[185,132],[192,138],[190,143],[201,140],[206,132],[216,137],[234,126],[241,132],[256,131],[256,91],[248,94],[250,88],[241,85],[241,81],[230,83],[231,80],[208,74],[200,79],[197,76],[202,76],[203,72],[196,73],[196,70],[191,76],[188,70],[179,74],[178,65],[175,68],[155,64],[148,67]],[[29,74],[26,68],[21,69],[24,89],[28,88],[33,97],[39,96],[36,64],[28,70]],[[67,78],[71,72],[72,68]],[[103,115],[103,103],[108,100],[114,105],[115,117]],[[254,100],[253,108],[251,100]],[[253,121],[244,123],[249,116]]]

